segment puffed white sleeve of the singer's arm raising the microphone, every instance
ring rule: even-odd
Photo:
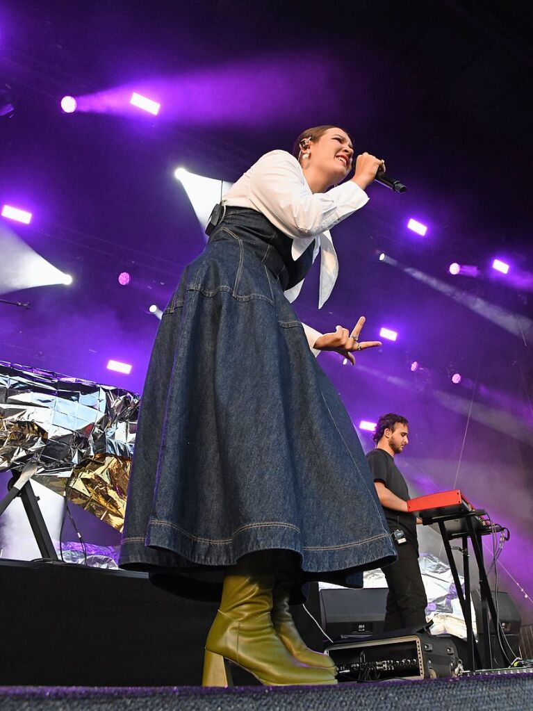
[[[254,164],[247,198],[294,238],[321,235],[368,201],[353,181],[327,193],[311,193],[298,161],[286,151],[271,151]]]

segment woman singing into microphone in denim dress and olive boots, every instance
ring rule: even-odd
[[[348,412],[313,351],[355,363],[351,335],[322,335],[291,307],[321,255],[319,307],[337,256],[328,231],[367,202],[383,162],[320,126],[294,155],[271,151],[214,210],[203,253],[161,319],[144,387],[120,565],[174,572],[174,589],[223,577],[205,643],[204,685],[227,685],[228,661],[263,684],[333,684],[308,649],[291,602],[301,585],[360,585],[394,546]],[[179,577],[176,577],[179,574]],[[176,582],[178,581],[178,582]]]

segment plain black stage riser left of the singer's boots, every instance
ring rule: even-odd
[[[144,573],[61,562],[0,560],[0,590],[0,685],[201,683],[217,604],[176,597]]]

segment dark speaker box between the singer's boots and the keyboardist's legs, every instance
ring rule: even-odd
[[[323,588],[321,619],[332,639],[343,635],[378,635],[384,627],[388,588]]]

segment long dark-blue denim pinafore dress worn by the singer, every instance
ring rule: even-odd
[[[205,578],[276,548],[302,579],[360,585],[395,560],[348,412],[284,296],[312,263],[313,245],[296,262],[291,245],[227,208],[186,267],[146,377],[121,567]]]

